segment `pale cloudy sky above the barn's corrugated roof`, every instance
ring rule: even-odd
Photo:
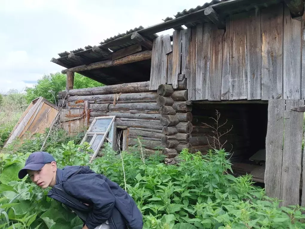
[[[98,45],[138,26],[151,26],[206,0],[0,0],[0,93],[23,91],[63,69],[57,53]],[[158,33],[172,34],[172,30]]]

